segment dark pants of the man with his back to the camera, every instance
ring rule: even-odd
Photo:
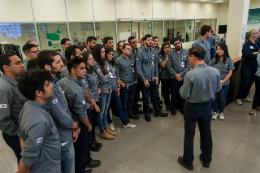
[[[194,160],[193,140],[195,135],[196,123],[198,122],[200,130],[200,149],[202,159],[205,163],[211,162],[212,155],[212,136],[211,136],[211,103],[185,103],[184,120],[185,120],[185,137],[184,137],[184,154],[183,163],[192,166]]]

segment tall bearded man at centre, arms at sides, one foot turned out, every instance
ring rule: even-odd
[[[152,48],[153,37],[150,34],[144,36],[144,47],[138,51],[136,58],[136,73],[142,80],[143,104],[145,120],[151,121],[149,97],[150,89],[153,94],[153,103],[155,113],[154,116],[167,117],[167,113],[162,112],[160,106],[160,97],[158,92],[159,70],[158,70],[158,54]]]

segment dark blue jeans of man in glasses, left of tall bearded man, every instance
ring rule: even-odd
[[[122,107],[126,117],[128,115],[133,115],[133,103],[135,97],[136,84],[127,87],[121,87],[121,99],[122,99]]]

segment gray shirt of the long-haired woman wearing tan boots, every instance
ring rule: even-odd
[[[112,92],[111,85],[110,85],[110,80],[109,80],[109,73],[107,72],[107,77],[103,74],[101,71],[100,66],[98,63],[95,61],[94,66],[93,66],[94,72],[97,74],[98,78],[98,88],[101,89],[101,93],[108,94]],[[105,68],[106,69],[106,68]]]

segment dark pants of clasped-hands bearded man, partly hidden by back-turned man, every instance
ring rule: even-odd
[[[172,98],[171,98],[172,109],[177,109],[177,107],[183,109],[184,107],[185,100],[182,99],[179,94],[179,90],[182,84],[183,84],[183,80],[179,82],[177,79],[170,77],[170,85],[171,85],[171,93],[172,93]]]

